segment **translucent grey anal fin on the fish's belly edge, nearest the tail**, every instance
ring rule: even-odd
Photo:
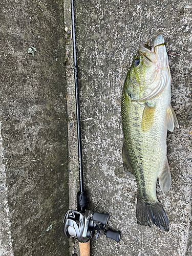
[[[172,177],[170,176],[170,168],[168,165],[167,158],[162,170],[162,173],[159,175],[159,185],[163,192],[166,192],[170,189],[170,184],[172,184]]]

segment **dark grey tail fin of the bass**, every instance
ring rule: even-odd
[[[162,230],[168,231],[168,220],[161,204],[157,201],[153,204],[146,203],[137,198],[137,223],[150,226],[151,221]]]

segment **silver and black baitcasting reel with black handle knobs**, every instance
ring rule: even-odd
[[[91,210],[86,210],[84,213],[76,210],[68,210],[63,219],[63,230],[68,238],[77,239],[80,243],[88,242],[94,236],[96,230],[96,239],[100,231],[102,231],[107,238],[119,242],[119,231],[105,229],[108,219],[108,214],[99,214],[99,212],[93,212]]]

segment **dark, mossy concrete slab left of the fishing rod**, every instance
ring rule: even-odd
[[[63,2],[0,8],[0,255],[68,255]]]

